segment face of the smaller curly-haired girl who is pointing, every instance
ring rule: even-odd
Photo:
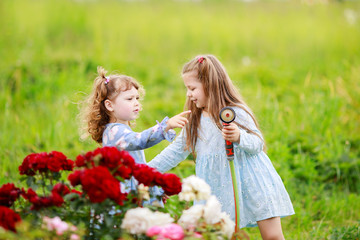
[[[114,100],[106,100],[105,106],[112,113],[115,122],[128,124],[139,115],[141,105],[139,93],[135,87],[121,91]]]

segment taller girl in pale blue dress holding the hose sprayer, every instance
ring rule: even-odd
[[[263,239],[284,239],[280,217],[294,214],[294,209],[263,151],[265,144],[254,114],[216,57],[196,57],[185,64],[182,77],[187,89],[186,108],[191,110],[189,124],[149,166],[165,172],[192,153],[196,156],[196,175],[211,186],[222,210],[234,220],[234,193],[224,139],[233,142],[239,227],[258,225]],[[226,106],[235,110],[236,119],[222,128],[219,113]]]

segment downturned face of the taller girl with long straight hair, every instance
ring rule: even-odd
[[[205,96],[203,84],[197,77],[195,71],[187,72],[182,75],[185,87],[187,89],[186,96],[196,105],[197,108],[207,109],[207,97]]]

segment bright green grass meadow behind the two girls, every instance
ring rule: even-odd
[[[183,110],[182,65],[211,53],[256,113],[292,198],[285,237],[359,238],[359,3],[2,0],[0,30],[0,184],[19,181],[29,153],[97,147],[79,139],[77,114],[98,65],[144,85],[141,131]]]

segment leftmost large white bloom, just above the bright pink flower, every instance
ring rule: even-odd
[[[125,213],[121,228],[126,229],[131,234],[145,233],[151,227],[150,215],[152,212],[148,208],[130,209]]]

